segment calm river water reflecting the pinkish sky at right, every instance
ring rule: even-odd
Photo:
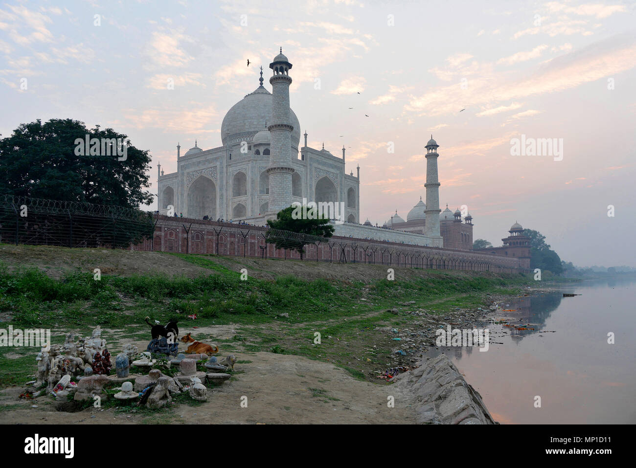
[[[518,310],[499,314],[509,324],[534,330],[488,324],[486,352],[456,347],[443,348],[445,354],[498,422],[636,423],[636,279],[591,280],[560,291],[581,296],[551,292],[503,304]]]

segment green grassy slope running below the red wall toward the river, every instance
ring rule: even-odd
[[[368,369],[391,364],[394,343],[380,343],[378,328],[401,327],[412,318],[404,308],[390,311],[399,303],[415,301],[411,308],[446,313],[483,305],[485,294],[519,294],[523,286],[534,284],[523,275],[409,268],[395,268],[395,280],[387,280],[386,266],[254,259],[249,260],[248,277],[242,280],[244,259],[162,255],[166,261],[174,257],[206,273],[195,277],[102,274],[95,280],[92,272],[68,272],[56,278],[43,268],[0,264],[0,328],[9,324],[50,328],[53,343],[61,343],[69,330],[86,336],[100,325],[109,343],[134,334],[147,343],[146,315],[162,323],[177,317],[182,327],[207,328],[195,330],[193,336],[214,341],[239,359],[258,351],[297,354],[333,362],[357,378],[368,378]],[[256,273],[268,268],[292,269],[294,275],[258,277]],[[316,278],[317,268],[323,269],[323,277]],[[347,268],[351,280],[343,279]],[[305,269],[311,270],[310,278],[303,275]],[[196,320],[187,318],[193,314]],[[228,324],[235,331],[233,336],[215,335],[214,327]],[[117,333],[110,334],[114,330]],[[319,345],[314,343],[316,331],[322,336]],[[378,347],[369,354],[367,348],[375,342]],[[116,352],[119,348],[114,347],[111,353]],[[36,353],[29,348],[0,348],[0,385],[29,380]]]

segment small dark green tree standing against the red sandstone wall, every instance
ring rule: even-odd
[[[302,208],[302,207],[301,207]],[[331,237],[335,229],[329,224],[329,219],[316,216],[297,216],[298,207],[288,207],[276,214],[276,219],[268,219],[267,225],[273,230],[287,231],[287,233],[274,233],[267,238],[267,242],[274,244],[277,249],[294,249],[300,253],[303,259],[305,244],[313,241],[309,236]],[[291,235],[296,233],[298,235]],[[303,234],[307,236],[303,236]]]

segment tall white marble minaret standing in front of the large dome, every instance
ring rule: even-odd
[[[270,176],[270,199],[268,217],[276,215],[280,210],[291,206],[291,175],[294,168],[291,165],[291,125],[289,109],[289,69],[291,64],[287,57],[280,53],[270,64],[273,75],[272,85],[272,118],[267,130],[272,134],[270,144],[270,165],[267,173]]]

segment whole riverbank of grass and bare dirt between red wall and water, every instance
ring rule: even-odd
[[[52,255],[46,248],[40,249],[45,251],[31,251],[26,257]],[[73,258],[73,251],[79,259]],[[60,265],[66,270],[56,268],[54,275],[48,275],[46,265],[37,262],[31,263],[31,270],[4,265],[0,271],[4,291],[0,327],[50,327],[53,343],[61,343],[69,331],[90,336],[100,324],[102,338],[111,355],[116,355],[125,343],[146,348],[146,315],[160,322],[176,315],[181,320],[180,335],[191,332],[197,340],[216,343],[219,355],[234,354],[239,360],[232,380],[209,390],[214,394],[212,399],[228,399],[224,414],[230,414],[237,404],[234,394],[242,395],[249,389],[251,396],[261,401],[266,396],[272,408],[282,411],[280,414],[297,411],[298,418],[291,418],[294,422],[303,422],[301,415],[306,413],[302,409],[309,402],[335,411],[338,418],[327,418],[331,422],[417,422],[408,416],[409,405],[417,404],[417,399],[406,391],[396,399],[396,411],[382,413],[387,407],[387,391],[398,389],[387,383],[387,371],[417,366],[420,354],[435,346],[434,331],[439,326],[473,328],[505,306],[506,299],[536,294],[529,289],[536,286],[532,279],[522,275],[395,268],[395,279],[387,280],[387,267],[379,265],[134,252],[158,255],[151,261],[164,268],[163,274],[149,270],[141,275],[130,270],[134,264],[122,251],[106,256],[111,265],[100,260],[102,271],[109,274],[97,282],[91,268],[95,264],[90,265],[86,253],[62,249],[59,254],[67,258]],[[172,265],[173,270],[165,271],[165,265]],[[196,274],[190,272],[190,266]],[[249,273],[245,281],[240,280],[241,268]],[[170,276],[170,272],[176,274]],[[188,315],[197,315],[197,319],[188,319]],[[0,391],[0,421],[37,418],[38,411],[50,412],[46,409],[48,397],[36,399],[40,409],[31,408],[32,401],[17,400],[36,370],[36,354],[36,349],[29,348],[0,349],[0,386],[4,387]],[[347,393],[347,389],[351,391]],[[188,413],[187,404],[177,406],[181,409],[171,409],[170,413]],[[16,413],[15,419],[14,411],[18,410],[34,414]],[[228,422],[277,422],[279,413],[268,411],[255,411],[242,421],[230,418]],[[362,420],[348,417],[349,411],[366,416]],[[200,418],[181,416],[178,418],[183,422]],[[39,417],[52,420],[51,415]],[[138,422],[158,422],[157,417],[125,415],[126,420]],[[224,416],[219,417],[223,420]],[[60,418],[79,420],[86,415]],[[289,420],[282,418],[280,422]],[[112,421],[120,419],[115,416]]]

